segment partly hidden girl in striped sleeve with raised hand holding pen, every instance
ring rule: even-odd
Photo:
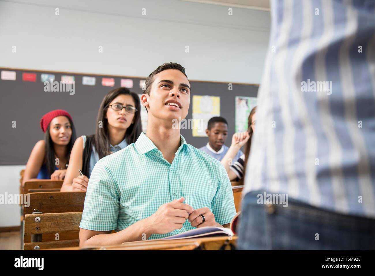
[[[257,107],[255,106],[248,118],[248,131],[234,133],[232,137],[232,144],[225,154],[221,163],[228,172],[229,179],[231,181],[243,181],[245,175],[246,163],[250,155],[251,137],[255,131],[255,124],[257,122]],[[238,160],[233,163],[232,160],[236,156],[240,148],[245,145],[245,153],[240,156]]]

